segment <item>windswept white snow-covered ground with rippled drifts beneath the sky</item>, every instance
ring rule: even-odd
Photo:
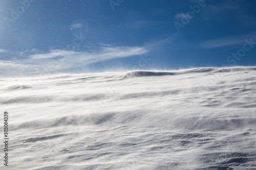
[[[256,67],[0,79],[0,92],[0,169],[256,169]]]

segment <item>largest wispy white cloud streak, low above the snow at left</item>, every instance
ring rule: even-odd
[[[110,59],[125,58],[145,54],[144,47],[101,47],[98,52],[74,52],[65,50],[51,50],[49,53],[33,54],[25,59],[4,61],[0,60],[1,77],[31,76],[43,72],[58,72],[68,70],[77,65],[88,65]],[[6,70],[12,70],[8,72]]]

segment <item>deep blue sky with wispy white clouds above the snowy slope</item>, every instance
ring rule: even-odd
[[[0,2],[0,77],[256,65],[256,1]]]

